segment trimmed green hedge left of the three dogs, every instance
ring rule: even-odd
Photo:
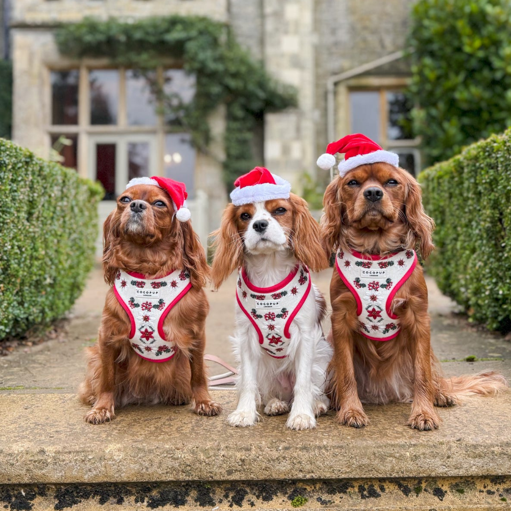
[[[0,138],[0,339],[62,316],[80,296],[102,194]]]

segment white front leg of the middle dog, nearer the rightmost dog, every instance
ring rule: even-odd
[[[296,382],[293,389],[293,405],[289,412],[286,426],[290,429],[313,429],[316,427],[314,416],[314,392],[312,385],[312,364],[315,345],[319,342],[321,332],[311,329],[301,332],[293,331],[291,342],[298,343],[295,354]]]

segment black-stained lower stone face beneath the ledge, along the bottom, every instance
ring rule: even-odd
[[[509,509],[511,478],[183,481],[0,486],[10,509]]]

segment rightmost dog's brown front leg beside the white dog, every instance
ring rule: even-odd
[[[334,356],[333,398],[337,408],[336,421],[353,428],[362,428],[369,424],[358,397],[355,377],[354,345],[355,331],[358,327],[357,306],[351,293],[343,293],[332,301],[332,331]]]

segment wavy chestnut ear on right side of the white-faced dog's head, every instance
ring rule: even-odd
[[[319,241],[319,224],[314,220],[307,202],[295,194],[290,194],[293,205],[293,248],[298,261],[312,271],[328,268],[328,258]]]

